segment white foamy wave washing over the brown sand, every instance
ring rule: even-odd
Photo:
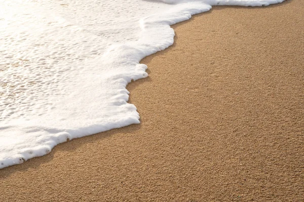
[[[0,0],[0,168],[139,123],[126,85],[173,43],[170,25],[214,5],[283,1]]]

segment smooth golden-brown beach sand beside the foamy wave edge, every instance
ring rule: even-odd
[[[0,170],[0,201],[304,201],[304,1],[173,27],[128,85],[141,124]]]

